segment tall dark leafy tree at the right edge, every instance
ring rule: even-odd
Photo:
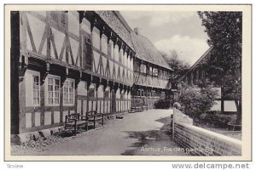
[[[213,46],[207,61],[212,79],[221,83],[225,98],[236,102],[236,123],[241,124],[241,12],[198,12]]]

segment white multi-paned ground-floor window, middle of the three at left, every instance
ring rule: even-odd
[[[47,80],[47,105],[60,105],[61,80],[59,77],[49,76]]]

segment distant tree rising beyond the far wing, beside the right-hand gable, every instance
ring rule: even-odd
[[[189,64],[181,59],[178,59],[176,50],[170,51],[170,54],[162,53],[166,62],[173,69],[171,77],[172,84],[177,84],[178,79],[182,77],[187,71],[189,71]]]

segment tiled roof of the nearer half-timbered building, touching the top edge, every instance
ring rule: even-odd
[[[118,11],[100,10],[95,12],[102,18],[102,20],[104,20],[108,24],[108,26],[110,26],[110,28],[115,33],[119,35],[119,37],[121,37],[125,41],[125,43],[132,50],[134,50],[130,35],[130,32],[132,30]]]

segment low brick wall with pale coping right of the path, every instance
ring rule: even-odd
[[[186,152],[196,156],[241,156],[240,140],[195,127],[191,121],[182,121],[183,113],[175,110],[173,137]]]

